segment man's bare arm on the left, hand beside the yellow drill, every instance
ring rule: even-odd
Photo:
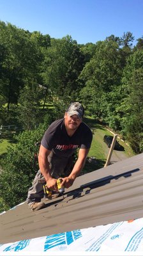
[[[49,154],[50,150],[41,145],[38,154],[38,163],[40,167],[40,172],[43,174],[43,177],[47,182],[47,187],[51,190],[57,191],[57,180],[53,179],[50,175],[50,166],[48,161]]]

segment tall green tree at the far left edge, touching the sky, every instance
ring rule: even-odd
[[[41,55],[30,33],[10,23],[0,22],[0,45],[0,91],[9,111],[11,103],[17,104],[25,81],[38,76]]]

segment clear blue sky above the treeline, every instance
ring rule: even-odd
[[[96,43],[130,31],[143,36],[143,0],[0,0],[0,20],[54,38]]]

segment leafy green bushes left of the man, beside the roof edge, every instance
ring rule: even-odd
[[[41,141],[43,133],[52,122],[50,116],[47,115],[46,119],[37,129],[16,136],[18,143],[8,149],[0,175],[0,195],[6,207],[13,207],[26,200],[27,190],[38,170],[38,164],[34,166],[34,154],[38,152],[38,146],[34,144]]]

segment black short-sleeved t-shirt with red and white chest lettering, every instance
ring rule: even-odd
[[[82,122],[73,136],[68,136],[64,126],[64,118],[54,121],[45,132],[41,145],[52,150],[59,157],[72,156],[77,148],[90,148],[93,134]]]

